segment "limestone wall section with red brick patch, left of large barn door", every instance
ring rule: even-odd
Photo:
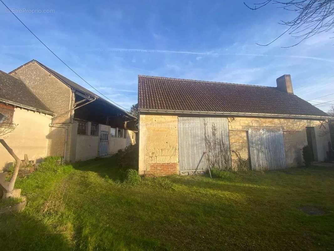
[[[139,173],[179,173],[177,116],[140,114],[139,119]]]

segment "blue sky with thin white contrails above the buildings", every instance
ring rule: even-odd
[[[65,63],[126,108],[137,103],[138,74],[266,86],[291,74],[303,99],[334,93],[333,33],[288,49],[281,48],[295,43],[288,35],[256,45],[284,31],[279,20],[291,19],[292,13],[274,6],[252,11],[242,1],[221,0],[4,2]],[[27,11],[36,9],[54,13]],[[0,22],[1,70],[36,59],[92,90],[1,3]],[[334,95],[316,99],[330,100]],[[330,105],[317,107],[327,111]]]

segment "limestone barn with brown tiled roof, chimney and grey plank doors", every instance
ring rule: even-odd
[[[212,125],[252,169],[303,165],[309,145],[324,161],[329,115],[293,93],[290,75],[277,87],[138,76],[140,174],[193,174],[205,171],[204,134]],[[209,137],[212,137],[209,136]]]

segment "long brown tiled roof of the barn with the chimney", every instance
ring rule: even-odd
[[[138,76],[139,111],[328,117],[277,87]]]

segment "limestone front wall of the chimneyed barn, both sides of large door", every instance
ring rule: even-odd
[[[274,118],[228,118],[230,149],[242,158],[248,158],[247,131],[283,131],[286,163],[288,167],[303,165],[302,148],[307,145],[306,127],[314,127],[318,160],[324,161],[330,135],[328,125],[317,120]],[[240,130],[240,131],[234,131]],[[139,173],[168,175],[179,173],[178,119],[173,115],[140,115]],[[231,153],[233,167],[236,155]]]

